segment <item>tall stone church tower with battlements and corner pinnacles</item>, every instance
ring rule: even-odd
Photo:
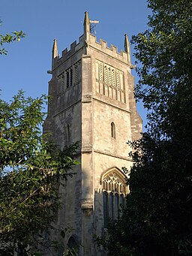
[[[107,233],[109,218],[117,218],[128,192],[121,167],[130,169],[127,141],[136,140],[142,120],[133,97],[130,74],[130,44],[124,36],[124,51],[96,41],[90,33],[86,12],[79,43],[58,56],[52,49],[52,79],[49,81],[48,115],[44,132],[51,132],[61,148],[80,141],[80,165],[63,191],[63,209],[57,227],[71,227],[65,238],[52,233],[62,251],[78,246],[78,255],[104,255],[93,236]]]

